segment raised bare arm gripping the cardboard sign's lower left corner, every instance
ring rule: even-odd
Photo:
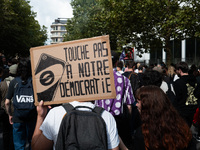
[[[42,125],[46,114],[47,114],[47,106],[43,105],[44,102],[41,101],[39,105],[37,106],[37,122],[35,126],[35,131],[33,133],[31,147],[32,150],[51,150],[53,149],[53,141],[47,139],[42,131],[39,129]]]

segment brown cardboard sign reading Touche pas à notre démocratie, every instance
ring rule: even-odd
[[[35,105],[116,97],[109,36],[30,49]]]

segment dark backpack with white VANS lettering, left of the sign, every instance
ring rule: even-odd
[[[24,83],[20,77],[15,78],[17,84],[13,96],[14,116],[19,119],[28,119],[35,111],[32,78]]]

